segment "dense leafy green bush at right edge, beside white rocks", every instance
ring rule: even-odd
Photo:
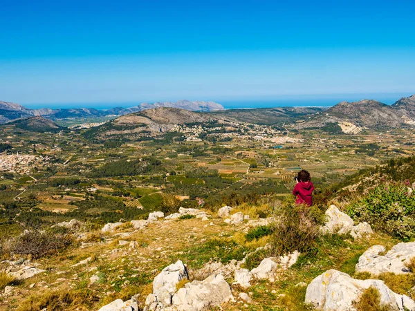
[[[353,200],[348,212],[354,220],[400,240],[415,238],[415,196],[405,185],[378,185]]]

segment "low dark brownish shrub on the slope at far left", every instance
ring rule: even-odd
[[[31,255],[39,258],[48,254],[55,254],[72,243],[69,234],[48,230],[41,232],[36,229],[25,230],[12,241],[10,251],[14,254]]]

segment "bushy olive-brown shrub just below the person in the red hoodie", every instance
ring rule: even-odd
[[[271,246],[275,255],[284,255],[297,250],[308,252],[315,245],[319,227],[324,223],[324,214],[318,207],[286,204],[275,216]]]

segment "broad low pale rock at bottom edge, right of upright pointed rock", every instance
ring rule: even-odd
[[[174,294],[172,304],[178,311],[202,311],[233,299],[229,284],[221,274],[216,274],[185,284]]]

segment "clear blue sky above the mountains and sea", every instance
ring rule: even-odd
[[[397,100],[415,93],[413,12],[415,1],[3,0],[0,100]]]

